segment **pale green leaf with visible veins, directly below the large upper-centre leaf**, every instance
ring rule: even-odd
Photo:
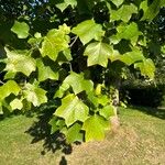
[[[110,58],[111,54],[111,46],[101,42],[95,42],[89,44],[84,53],[84,55],[88,56],[88,66],[98,64],[102,67],[107,67],[108,59]]]

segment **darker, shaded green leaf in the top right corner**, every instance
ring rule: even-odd
[[[141,6],[141,8],[144,11],[144,14],[141,21],[144,21],[144,20],[152,21],[158,14],[162,4],[163,4],[163,1],[154,0],[152,4],[146,7],[146,2],[144,1]]]

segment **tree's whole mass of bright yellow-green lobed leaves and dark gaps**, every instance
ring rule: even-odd
[[[113,78],[133,67],[154,79],[148,30],[164,0],[13,4],[0,2],[1,108],[21,110],[24,102],[40,107],[61,99],[50,121],[52,132],[64,133],[68,143],[82,141],[84,135],[85,141],[102,140],[116,114]],[[47,81],[55,84],[53,96]]]

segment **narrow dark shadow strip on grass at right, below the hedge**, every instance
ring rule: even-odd
[[[156,108],[151,108],[151,107],[138,107],[138,106],[133,106],[131,107],[131,109],[135,109],[148,116],[153,116],[153,117],[165,120],[165,109],[156,109]]]

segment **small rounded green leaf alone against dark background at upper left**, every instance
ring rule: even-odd
[[[19,38],[26,38],[29,36],[30,28],[25,22],[15,21],[11,31],[14,32]]]

